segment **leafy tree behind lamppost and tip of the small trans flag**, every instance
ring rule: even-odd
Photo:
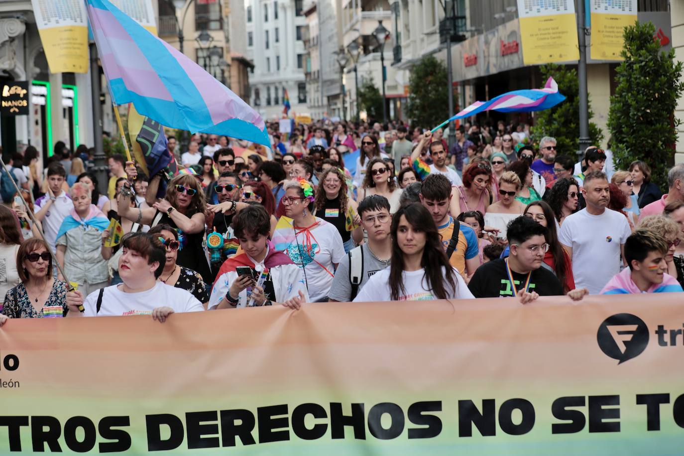
[[[565,101],[534,113],[533,138],[539,142],[544,136],[555,137],[558,154],[573,157],[579,150],[579,80],[577,70],[564,65],[548,64],[540,68],[542,81],[549,77],[558,83],[558,91],[566,96]],[[588,103],[589,119],[594,117],[591,103]],[[589,122],[589,138],[599,146],[603,133],[594,122]]]

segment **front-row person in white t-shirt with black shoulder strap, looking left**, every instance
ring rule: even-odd
[[[94,291],[85,301],[80,291],[67,293],[68,317],[151,314],[163,323],[174,312],[204,310],[189,291],[157,281],[166,263],[166,247],[158,235],[129,233],[123,237],[121,248],[118,271],[123,283]],[[86,308],[83,313],[78,311],[81,304]]]

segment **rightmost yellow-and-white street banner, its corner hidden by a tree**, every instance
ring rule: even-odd
[[[592,0],[590,4],[591,58],[622,60],[622,33],[624,27],[634,25],[637,20],[637,0]]]

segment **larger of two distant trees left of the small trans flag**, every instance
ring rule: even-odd
[[[413,68],[409,79],[406,113],[424,128],[449,118],[447,67],[433,55],[425,56]]]

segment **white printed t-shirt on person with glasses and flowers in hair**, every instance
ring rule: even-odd
[[[344,244],[337,228],[319,217],[316,217],[316,221],[319,224],[311,230],[311,256],[306,253],[304,233],[298,234],[295,242],[287,247],[287,256],[300,269],[303,267],[302,259],[304,260],[303,276],[312,302],[328,296],[335,273],[332,263],[339,264],[345,256]]]

